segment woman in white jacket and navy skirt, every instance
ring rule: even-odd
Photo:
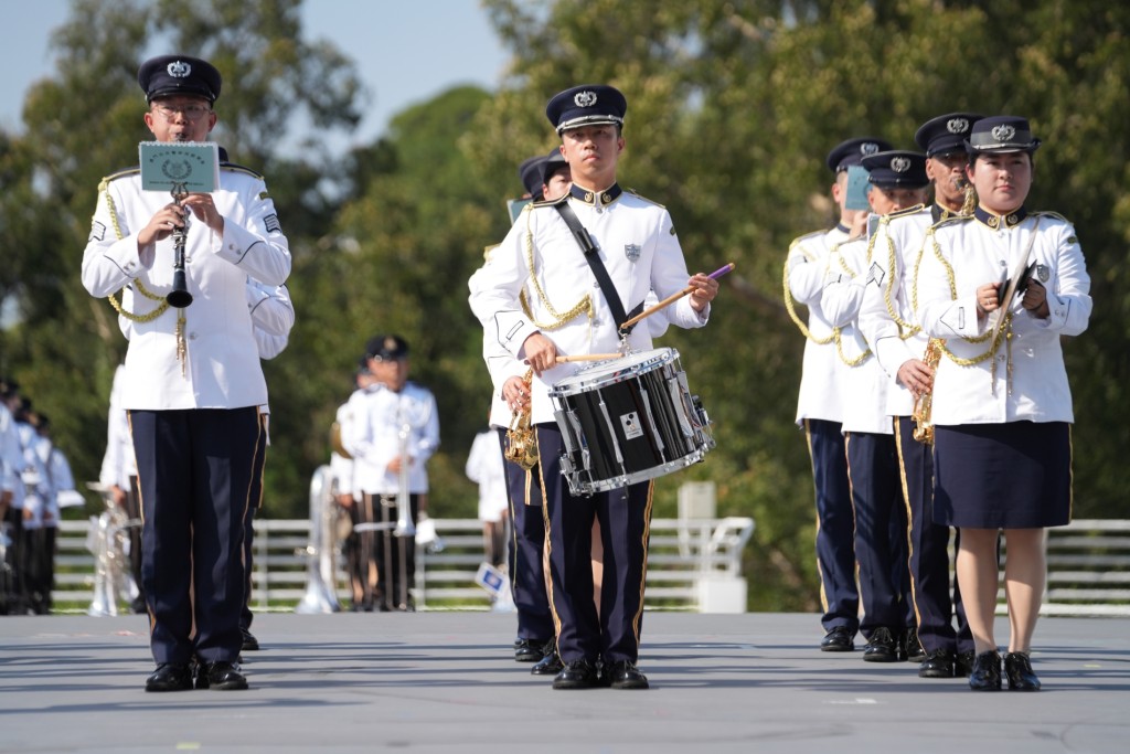
[[[1028,652],[1046,581],[1044,527],[1071,520],[1071,390],[1063,336],[1087,329],[1090,278],[1075,227],[1025,206],[1040,140],[1012,115],[973,124],[973,217],[928,234],[919,318],[942,338],[935,375],[935,520],[960,528],[957,578],[976,659],[970,687],[1001,687],[993,633],[998,532],[1007,547],[1003,674],[1036,691]]]

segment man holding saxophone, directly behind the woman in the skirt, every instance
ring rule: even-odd
[[[922,648],[918,673],[922,678],[966,676],[973,666],[973,638],[956,583],[950,598],[949,527],[933,522],[930,430],[925,422],[914,418],[916,408],[928,405],[921,401],[930,393],[941,353],[937,345],[928,347],[929,339],[918,326],[913,304],[914,275],[927,231],[941,219],[968,211],[966,193],[972,191],[966,190],[964,141],[980,119],[976,113],[947,113],[930,119],[914,135],[925,153],[933,205],[879,220],[869,285],[859,314],[860,331],[890,380],[887,414],[894,417],[895,447],[907,495],[909,569],[916,638]],[[906,641],[913,648],[913,638]],[[914,655],[910,659],[915,659]]]

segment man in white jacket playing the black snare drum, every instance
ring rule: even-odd
[[[688,276],[667,210],[625,193],[616,182],[626,110],[624,95],[610,86],[579,86],[549,101],[546,115],[562,137],[562,154],[573,176],[563,201],[599,250],[619,309],[632,311],[651,289],[667,297],[690,285],[694,291],[670,307],[669,318],[679,327],[703,327],[718,283],[704,274]],[[519,293],[527,286],[534,292],[528,301],[529,314],[518,305]],[[636,669],[636,661],[652,485],[644,482],[588,497],[571,495],[560,474],[562,436],[548,397],[550,385],[577,370],[575,364],[559,363],[558,354],[618,350],[624,320],[615,321],[617,307],[608,303],[581,246],[550,202],[533,205],[519,217],[472,281],[470,304],[487,336],[534,372],[532,396],[514,391],[506,397],[514,407],[532,400],[540,448],[550,606],[564,662],[554,687],[646,688],[647,679]],[[633,350],[651,348],[649,329],[633,329],[627,345]],[[590,562],[594,520],[600,521],[606,554],[599,614]]]

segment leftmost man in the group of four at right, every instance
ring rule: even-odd
[[[890,145],[861,137],[842,141],[828,153],[825,164],[835,175],[832,200],[838,223],[796,239],[789,246],[784,269],[784,297],[789,313],[805,336],[805,361],[797,401],[797,424],[805,430],[812,458],[816,487],[816,562],[820,577],[820,623],[825,635],[820,650],[849,652],[859,631],[859,589],[855,586],[855,522],[852,518],[847,463],[841,432],[844,400],[838,379],[840,357],[835,332],[820,307],[828,259],[852,235],[862,233],[867,211],[847,207],[849,168],[863,157]],[[793,303],[808,307],[800,319]]]

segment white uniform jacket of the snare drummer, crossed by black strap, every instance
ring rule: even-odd
[[[589,205],[567,199],[588,229],[620,297],[624,311],[644,302],[650,291],[666,298],[686,287],[689,274],[668,211],[646,199],[621,193],[611,203]],[[531,205],[523,210],[502,244],[470,284],[471,311],[493,338],[519,362],[522,346],[534,332],[542,332],[560,355],[616,353],[619,333],[611,309],[568,226],[550,205]],[[523,313],[519,294],[532,291],[528,301],[532,317]],[[542,295],[544,294],[544,295]],[[703,327],[710,307],[699,314],[683,297],[668,307],[669,320],[683,328]],[[562,321],[571,312],[574,317]],[[628,337],[631,350],[652,347],[650,327],[641,322]],[[484,346],[485,352],[489,346]],[[582,369],[583,363],[563,363],[533,376],[534,423],[554,422],[549,388]],[[496,391],[501,375],[518,371],[492,367]],[[519,374],[524,373],[524,369]],[[503,376],[503,382],[505,376]],[[497,417],[492,419],[497,421]]]

